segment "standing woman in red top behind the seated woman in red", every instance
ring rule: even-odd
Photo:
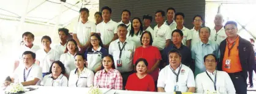
[[[145,58],[148,61],[148,70],[146,73],[152,76],[157,82],[157,78],[159,75],[159,62],[162,59],[159,50],[157,47],[152,46],[152,36],[150,32],[143,32],[140,38],[141,47],[138,47],[134,53],[134,64],[138,58]],[[135,67],[135,66],[134,66]],[[135,69],[134,69],[135,70]]]

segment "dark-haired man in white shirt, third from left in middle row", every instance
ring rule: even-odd
[[[59,44],[55,44],[53,49],[55,49],[59,53],[59,55],[62,55],[65,52],[67,47],[67,38],[69,36],[69,30],[65,28],[61,28],[58,30],[58,33],[59,33],[60,42]]]

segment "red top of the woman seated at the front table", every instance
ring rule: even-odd
[[[155,92],[155,83],[151,75],[146,75],[144,78],[140,79],[136,73],[133,73],[127,79],[126,89],[134,91]]]

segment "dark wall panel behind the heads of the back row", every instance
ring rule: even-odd
[[[130,20],[134,17],[140,17],[142,20],[143,15],[151,15],[153,17],[152,28],[156,25],[154,13],[157,10],[166,12],[168,7],[173,7],[176,12],[185,14],[184,25],[188,29],[194,27],[192,19],[195,15],[201,15],[205,18],[205,0],[100,0],[99,11],[104,6],[112,8],[111,19],[116,22],[121,21],[121,12],[124,9],[130,10],[132,13]]]

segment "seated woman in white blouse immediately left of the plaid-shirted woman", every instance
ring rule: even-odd
[[[80,53],[75,55],[75,66],[69,75],[69,87],[91,87],[94,73],[85,67],[85,58]]]

